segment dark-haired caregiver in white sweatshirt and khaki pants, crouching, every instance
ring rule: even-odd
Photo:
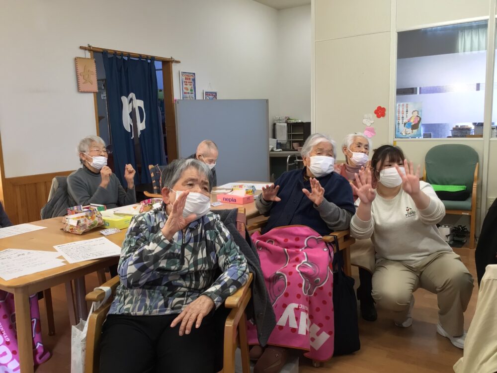
[[[372,296],[394,311],[399,327],[412,325],[413,292],[418,287],[437,294],[438,334],[464,347],[464,316],[473,291],[473,277],[444,241],[436,223],[445,207],[433,188],[419,181],[398,147],[376,149],[371,168],[356,175],[358,208],[351,235],[371,238],[376,248]],[[373,186],[376,185],[376,188]]]

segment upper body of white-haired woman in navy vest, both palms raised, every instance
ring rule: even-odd
[[[257,210],[269,216],[262,233],[284,225],[307,225],[321,235],[348,229],[355,212],[346,179],[333,172],[335,143],[314,133],[302,147],[303,170],[285,172],[274,185],[262,188]]]

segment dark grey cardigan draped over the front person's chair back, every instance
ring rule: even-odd
[[[242,237],[237,230],[237,209],[233,210],[216,210],[221,221],[230,231],[235,243],[240,247],[240,250],[245,255],[248,263],[248,271],[252,274],[253,280],[250,285],[252,289],[252,297],[247,305],[247,318],[252,320],[257,328],[257,339],[261,346],[267,344],[267,340],[276,326],[276,317],[274,315],[273,306],[269,300],[264,275],[260,268],[260,261],[255,246],[248,236],[248,231],[245,232],[246,237]]]

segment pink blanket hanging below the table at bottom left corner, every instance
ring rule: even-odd
[[[38,365],[50,358],[50,352],[45,350],[41,340],[38,294],[29,297],[29,305],[33,332],[33,360],[34,365]],[[20,372],[15,329],[14,296],[9,292],[0,290],[0,372]]]

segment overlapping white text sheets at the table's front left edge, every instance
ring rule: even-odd
[[[60,253],[24,249],[5,249],[0,251],[0,277],[12,280],[21,276],[64,266]]]

